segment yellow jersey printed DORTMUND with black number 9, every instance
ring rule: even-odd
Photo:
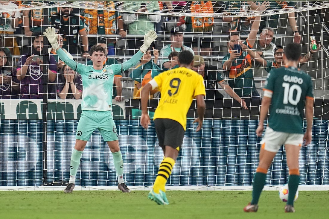
[[[186,115],[195,96],[205,95],[203,78],[197,72],[185,68],[174,68],[154,77],[161,99],[154,119],[172,119],[186,129]]]

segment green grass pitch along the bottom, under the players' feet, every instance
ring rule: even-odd
[[[157,205],[148,191],[0,191],[1,218],[328,218],[329,191],[299,191],[295,213],[285,213],[277,191],[263,191],[258,212],[243,212],[251,191],[167,191]]]

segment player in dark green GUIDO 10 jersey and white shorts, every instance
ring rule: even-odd
[[[283,54],[286,66],[274,68],[267,75],[260,119],[256,130],[257,136],[262,136],[264,120],[269,105],[272,106],[269,111],[266,132],[261,141],[262,147],[253,181],[252,200],[243,208],[246,212],[257,211],[267,170],[282,144],[285,145],[289,168],[289,196],[285,211],[295,212],[293,201],[299,184],[299,151],[303,141],[305,141],[305,145],[311,143],[314,107],[311,77],[297,68],[299,58],[300,46],[288,44]],[[304,108],[307,121],[305,134],[303,134]]]

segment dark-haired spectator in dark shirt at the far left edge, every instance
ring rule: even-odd
[[[13,57],[8,48],[0,50],[0,98],[18,99],[19,83],[14,77]]]

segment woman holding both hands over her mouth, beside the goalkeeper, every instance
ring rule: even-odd
[[[58,75],[57,96],[60,99],[82,97],[82,77],[67,65],[63,66],[63,74]]]

